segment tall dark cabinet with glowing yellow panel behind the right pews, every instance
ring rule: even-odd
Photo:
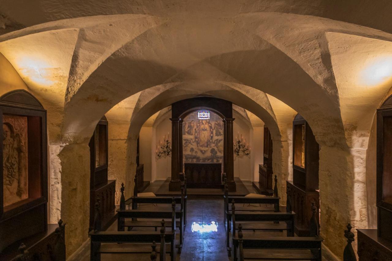
[[[287,197],[296,212],[295,231],[309,234],[312,204],[319,208],[319,145],[305,119],[297,114],[293,121],[293,180],[287,181]]]

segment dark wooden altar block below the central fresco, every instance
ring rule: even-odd
[[[221,163],[185,163],[188,188],[221,188]]]

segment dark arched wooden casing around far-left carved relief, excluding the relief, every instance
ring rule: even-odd
[[[27,117],[29,198],[4,207],[3,196],[0,197],[0,251],[15,241],[47,230],[48,195],[45,109],[29,92],[16,90],[0,97],[0,125],[3,114]],[[3,195],[3,146],[0,147],[0,195]]]

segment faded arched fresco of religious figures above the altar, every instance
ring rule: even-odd
[[[198,111],[183,121],[184,163],[222,163],[223,121],[210,111],[210,119],[198,120]]]

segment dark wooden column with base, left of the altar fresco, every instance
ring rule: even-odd
[[[181,181],[179,178],[179,134],[180,134],[180,119],[171,118],[172,121],[172,173],[171,181],[169,183],[169,191],[180,191]]]

